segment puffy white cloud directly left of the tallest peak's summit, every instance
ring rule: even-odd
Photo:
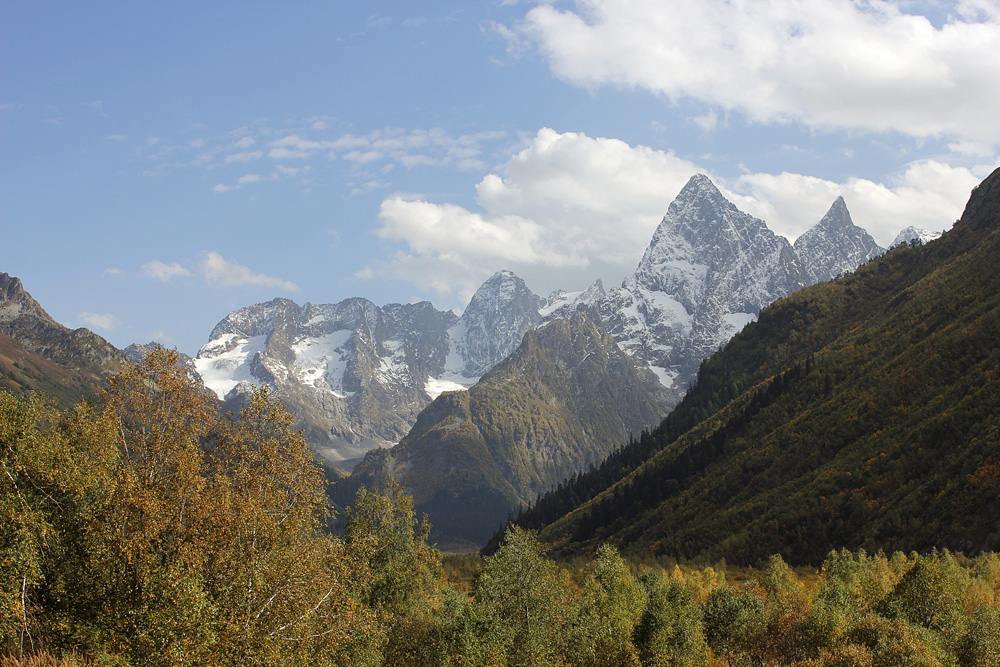
[[[476,186],[482,212],[412,197],[383,201],[378,234],[407,251],[370,268],[441,294],[469,293],[505,267],[525,278],[544,272],[579,281],[596,271],[588,280],[620,279],[635,269],[671,198],[696,171],[668,152],[544,128],[502,176],[489,174]]]

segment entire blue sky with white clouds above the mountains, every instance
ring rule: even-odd
[[[1000,0],[0,3],[0,272],[194,355],[284,297],[631,274],[707,174],[883,246],[1000,164]]]

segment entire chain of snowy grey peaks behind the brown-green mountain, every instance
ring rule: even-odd
[[[228,402],[272,386],[318,451],[354,459],[398,442],[431,400],[475,385],[526,332],[593,307],[633,363],[656,373],[669,408],[701,361],[761,308],[881,250],[851,222],[842,199],[798,245],[808,261],[696,175],[670,204],[635,273],[609,293],[598,280],[542,299],[499,271],[461,317],[428,302],[380,308],[361,298],[305,306],[275,299],[220,322],[195,364]]]

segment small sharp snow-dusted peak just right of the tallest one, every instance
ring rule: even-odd
[[[850,273],[885,252],[854,224],[843,197],[837,197],[823,219],[795,240],[794,247],[814,283]]]

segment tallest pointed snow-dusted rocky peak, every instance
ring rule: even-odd
[[[670,204],[635,274],[600,310],[622,349],[671,391],[673,405],[703,359],[761,308],[810,282],[784,237],[696,175]]]

